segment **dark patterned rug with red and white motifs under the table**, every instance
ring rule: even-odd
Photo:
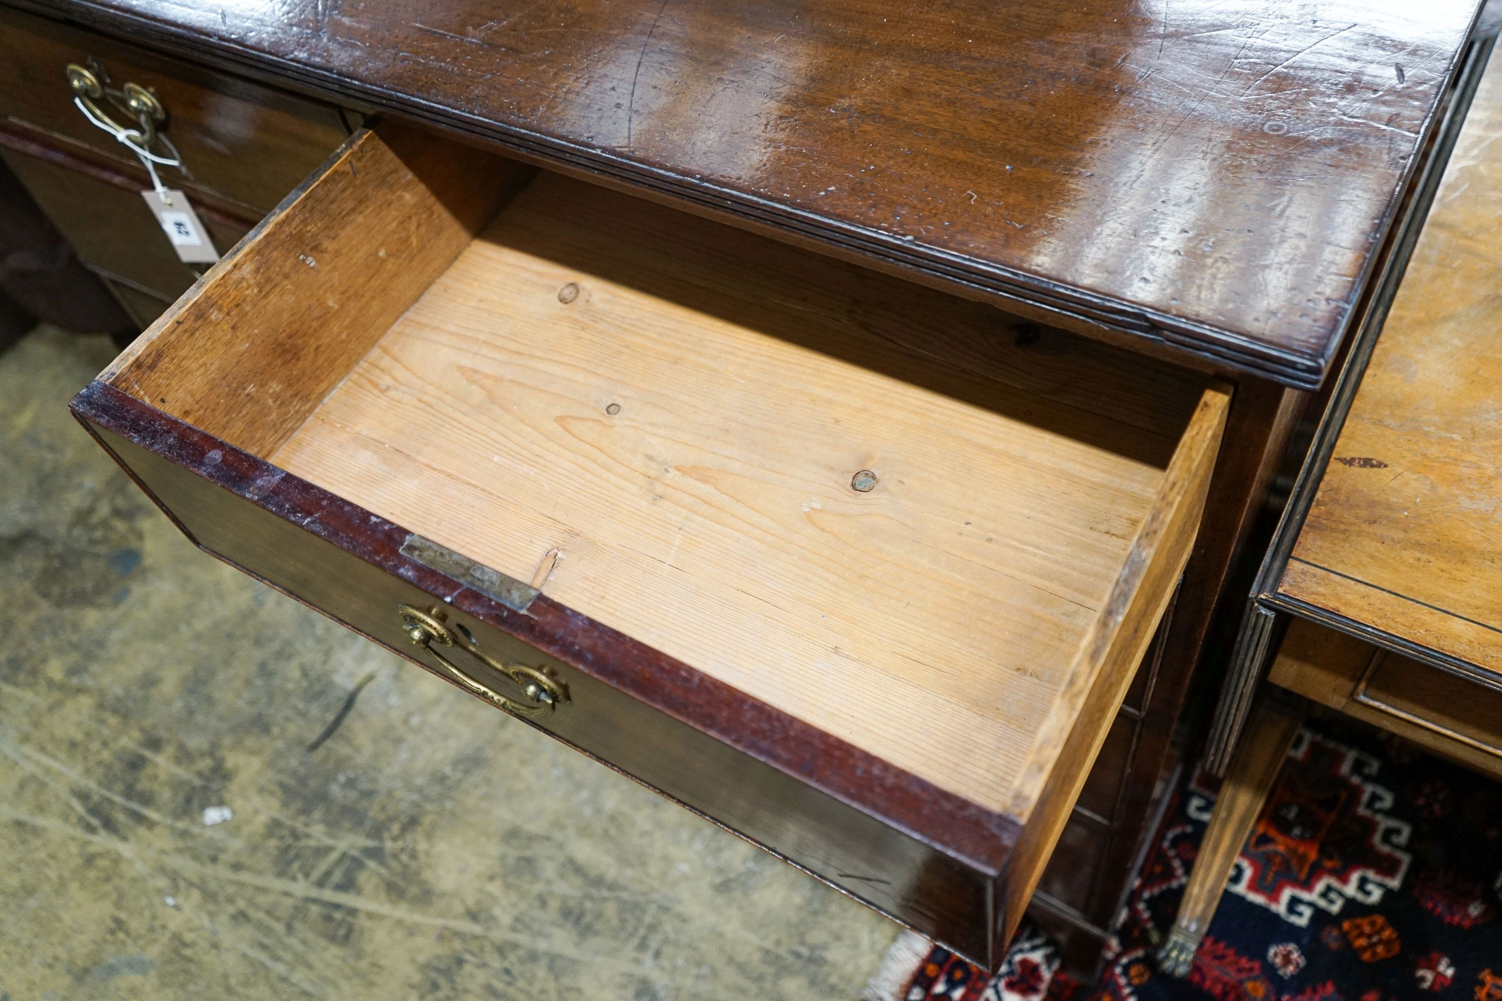
[[[1341,722],[1299,732],[1190,975],[1158,972],[1215,789],[1178,791],[1095,987],[1024,926],[991,978],[904,935],[867,1001],[1502,1001],[1502,786]]]

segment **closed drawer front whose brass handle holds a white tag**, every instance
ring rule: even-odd
[[[131,83],[152,92],[167,114],[161,132],[183,162],[183,171],[162,168],[164,182],[219,192],[251,215],[275,207],[347,135],[338,108],[0,11],[0,113],[11,126],[62,149],[89,147],[135,165],[129,150],[74,105],[69,65],[95,68],[111,89]],[[131,125],[126,111],[107,99],[98,104],[120,126]]]

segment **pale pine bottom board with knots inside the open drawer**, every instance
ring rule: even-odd
[[[556,600],[1014,807],[1178,443],[847,362],[846,290],[724,234],[539,177],[275,461],[520,579],[557,549]]]

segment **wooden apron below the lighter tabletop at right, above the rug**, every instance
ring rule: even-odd
[[[1305,618],[1289,624],[1268,680],[1502,777],[1502,690]]]

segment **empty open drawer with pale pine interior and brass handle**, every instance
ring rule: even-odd
[[[1226,408],[395,126],[74,401],[204,549],[987,965]]]

